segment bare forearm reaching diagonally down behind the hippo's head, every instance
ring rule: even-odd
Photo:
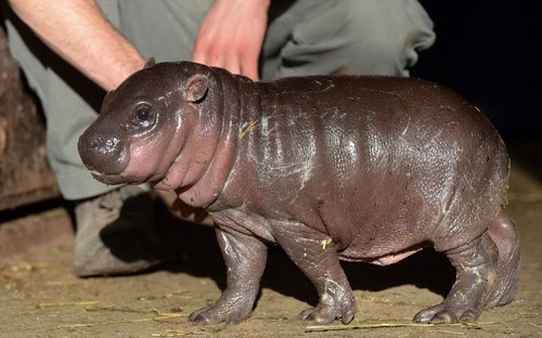
[[[143,67],[143,57],[93,0],[9,1],[49,48],[106,91]]]

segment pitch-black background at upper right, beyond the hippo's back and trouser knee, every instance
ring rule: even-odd
[[[542,139],[542,13],[535,1],[421,0],[436,43],[411,76],[449,87],[506,139]]]

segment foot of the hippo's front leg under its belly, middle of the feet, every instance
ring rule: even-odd
[[[331,290],[331,288],[328,289]],[[343,324],[348,324],[354,315],[356,301],[352,294],[345,292],[338,285],[335,285],[335,290],[324,294],[315,308],[305,310],[299,314],[299,317],[311,324],[330,324],[338,318]]]

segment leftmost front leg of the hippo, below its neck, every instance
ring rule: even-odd
[[[212,306],[190,315],[196,324],[237,324],[248,318],[267,261],[267,246],[255,236],[217,227],[217,238],[228,269],[227,288]]]

